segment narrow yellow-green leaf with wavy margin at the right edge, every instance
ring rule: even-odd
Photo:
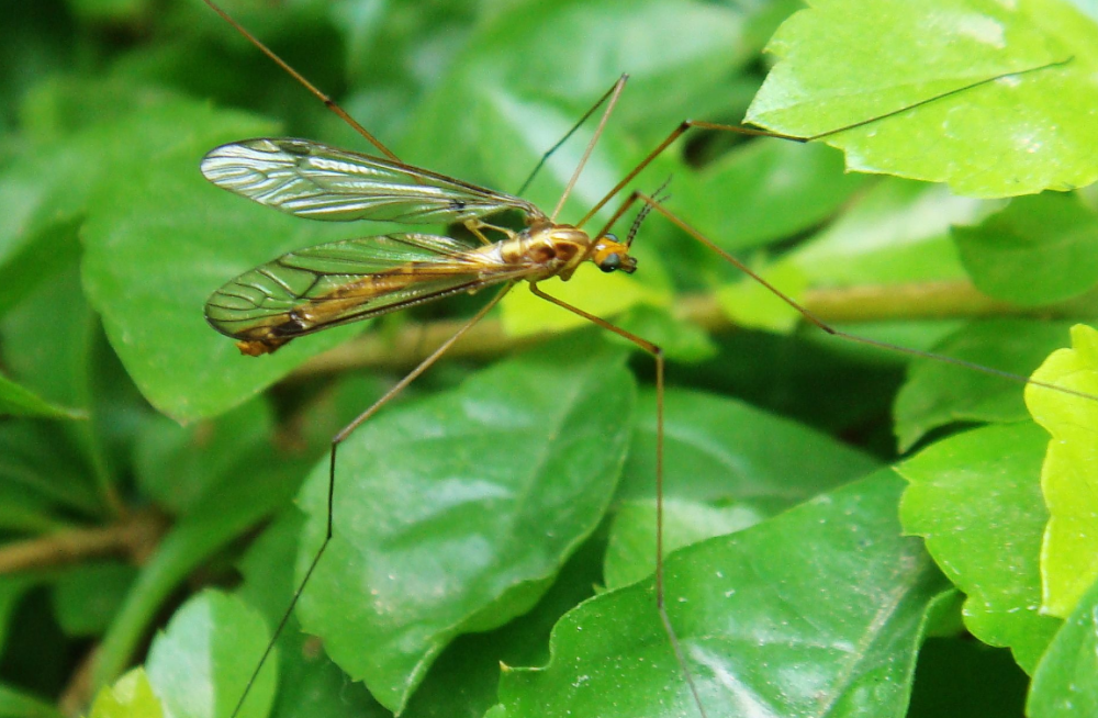
[[[1050,391],[1029,384],[1026,404],[1033,420],[1052,440],[1041,470],[1044,501],[1052,515],[1041,551],[1044,609],[1066,618],[1098,579],[1098,333],[1088,326],[1072,329],[1072,348],[1054,352],[1033,372],[1033,381],[1061,386]]]

